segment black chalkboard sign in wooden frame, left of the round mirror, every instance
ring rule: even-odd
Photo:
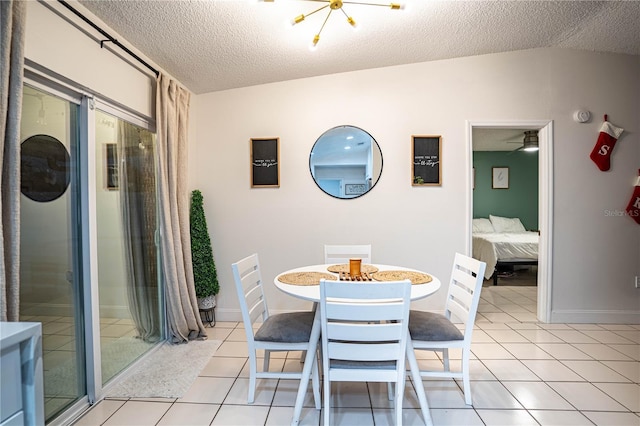
[[[251,187],[280,186],[280,138],[252,138]]]

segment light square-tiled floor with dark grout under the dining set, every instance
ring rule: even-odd
[[[640,426],[640,325],[538,323],[536,291],[483,289],[472,344],[473,406],[465,405],[461,383],[424,380],[434,425]],[[298,381],[259,380],[248,405],[242,324],[218,322],[209,336],[223,343],[183,398],[103,400],[75,424],[288,425]],[[439,362],[433,353],[417,356]],[[275,368],[301,368],[299,352],[275,361]],[[332,424],[393,424],[385,385],[334,385]],[[403,406],[405,425],[423,424],[411,381]],[[321,416],[308,394],[301,424],[319,425]]]

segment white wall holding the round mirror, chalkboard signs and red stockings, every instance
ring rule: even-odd
[[[373,260],[448,280],[466,249],[466,120],[554,121],[553,321],[640,318],[640,227],[622,211],[640,165],[640,58],[540,49],[300,79],[200,95],[192,101],[191,186],[204,196],[221,281],[218,315],[239,319],[231,263],[260,255],[270,282],[321,263],[323,244],[371,243]],[[572,120],[586,107],[587,124]],[[612,170],[589,159],[602,115],[626,129]],[[313,183],[309,151],[325,130],[352,124],[380,144],[369,194],[337,200]],[[411,186],[411,136],[442,135],[443,184]],[[280,138],[281,184],[251,189],[249,139]],[[416,303],[440,309],[444,291]],[[308,304],[271,286],[275,311]]]

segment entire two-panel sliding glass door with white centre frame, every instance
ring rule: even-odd
[[[68,86],[29,83],[20,321],[42,323],[50,422],[95,401],[163,338],[156,150],[139,117]]]

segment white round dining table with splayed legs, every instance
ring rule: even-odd
[[[317,285],[295,285],[295,284],[286,284],[279,280],[280,276],[284,274],[294,273],[294,272],[324,272],[328,274],[332,274],[336,277],[336,280],[340,279],[340,274],[330,272],[327,268],[331,266],[330,264],[320,264],[320,265],[310,265],[303,266],[300,268],[290,269],[288,271],[284,271],[278,274],[274,279],[273,283],[275,286],[282,292],[297,297],[303,300],[309,300],[314,302],[314,308],[317,307],[317,303],[320,301],[320,283]],[[365,266],[363,264],[363,266]],[[410,272],[419,272],[425,273],[416,269],[404,268],[401,266],[392,266],[392,265],[379,265],[373,264],[378,271],[410,271]],[[438,278],[434,275],[429,274],[431,276],[431,281],[425,284],[413,284],[411,286],[411,300],[418,300],[424,297],[427,297],[440,289],[441,283]],[[353,281],[345,281],[345,282],[353,282]],[[356,281],[361,283],[362,285],[375,285],[376,281]],[[300,414],[302,413],[302,404],[304,402],[304,396],[307,392],[307,387],[309,385],[309,379],[311,378],[311,368],[315,365],[315,354],[318,347],[318,341],[320,339],[320,312],[316,309],[315,319],[313,321],[313,327],[311,329],[311,337],[309,339],[309,348],[307,349],[307,353],[304,360],[304,367],[302,369],[302,379],[300,380],[300,386],[298,387],[298,394],[296,396],[296,403],[293,410],[293,418],[291,420],[291,425],[297,425],[300,421]],[[409,360],[409,366],[411,370],[411,375],[413,380],[418,380],[421,382],[420,373],[418,371],[418,365],[413,353],[413,345],[411,344],[411,339],[407,341],[407,358]],[[424,393],[424,388],[422,386],[416,386],[416,392],[418,394],[418,400],[420,401],[420,406],[423,411],[423,414],[428,411],[428,407],[426,406],[426,395]],[[426,417],[425,417],[426,418]]]

